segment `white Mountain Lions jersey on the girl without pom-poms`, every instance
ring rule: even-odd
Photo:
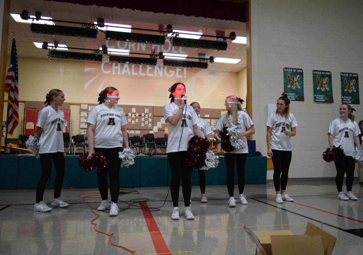
[[[266,126],[272,128],[271,132],[271,149],[273,150],[291,150],[291,136],[285,135],[285,131],[291,131],[291,128],[297,126],[294,114],[290,113],[289,118],[281,116],[279,113],[271,113],[267,118]]]

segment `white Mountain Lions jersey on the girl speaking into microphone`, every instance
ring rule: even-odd
[[[186,113],[185,113],[185,107],[187,108]],[[179,151],[187,150],[188,142],[194,136],[192,126],[199,122],[199,117],[195,113],[192,106],[185,105],[185,107],[179,122],[175,126],[170,124],[170,122],[168,121],[168,117],[175,115],[176,112],[178,112],[179,110],[179,106],[174,104],[174,102],[172,102],[171,104],[164,105],[163,107],[164,119],[168,125],[168,130],[169,130],[167,153],[178,151],[179,141],[180,141]],[[183,129],[183,134],[181,134],[182,129]],[[180,135],[182,135],[181,140],[180,140]]]

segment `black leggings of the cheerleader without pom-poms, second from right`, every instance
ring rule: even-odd
[[[280,191],[280,183],[281,190],[286,190],[292,152],[291,150],[272,150],[272,154],[273,184],[275,185],[275,190]]]

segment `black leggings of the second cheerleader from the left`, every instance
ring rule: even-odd
[[[110,193],[111,202],[118,202],[118,195],[120,193],[120,167],[121,159],[118,157],[119,151],[122,151],[122,147],[114,148],[94,148],[97,152],[102,152],[106,155],[106,158],[110,161],[106,164],[106,169],[97,172],[98,190],[101,194],[102,200],[108,198],[108,185],[107,185],[107,173],[110,179]]]

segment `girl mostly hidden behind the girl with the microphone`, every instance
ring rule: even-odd
[[[195,113],[197,114],[197,116],[199,116],[200,113],[200,105],[197,102],[192,102],[190,104]],[[200,134],[202,135],[202,138],[207,138],[208,141],[210,141],[209,139],[209,135],[212,134],[212,129],[209,126],[208,122],[206,120],[204,120],[201,117],[199,118],[199,122],[197,123],[197,126],[199,128]],[[199,187],[200,187],[200,202],[202,203],[207,203],[208,199],[207,199],[207,195],[205,194],[205,170],[201,170],[198,169],[198,175],[199,175]]]

